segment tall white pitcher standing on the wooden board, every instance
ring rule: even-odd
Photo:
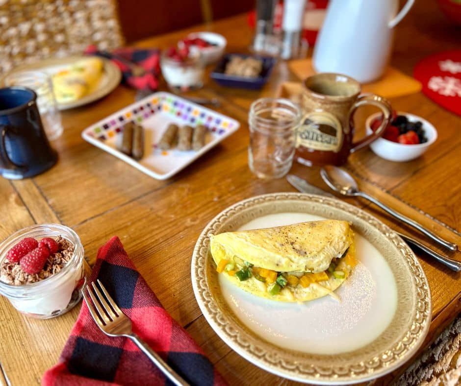
[[[393,28],[414,0],[397,15],[398,0],[331,0],[313,54],[317,72],[338,72],[371,82],[383,75]]]

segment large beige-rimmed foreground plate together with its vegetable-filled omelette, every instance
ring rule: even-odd
[[[198,239],[191,275],[216,334],[298,382],[350,384],[391,372],[421,346],[432,316],[408,245],[330,197],[272,193],[230,206]]]

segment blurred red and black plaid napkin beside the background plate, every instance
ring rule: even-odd
[[[160,76],[160,50],[154,49],[135,49],[135,48],[118,48],[113,54],[132,63],[141,66],[146,73],[143,76],[134,76],[129,67],[122,61],[117,60],[109,52],[98,51],[95,46],[89,46],[85,50],[86,54],[98,55],[110,59],[116,64],[122,72],[122,82],[139,90],[152,90],[158,88],[158,78]]]

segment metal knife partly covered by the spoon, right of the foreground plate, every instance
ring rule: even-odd
[[[319,194],[319,195],[326,195],[329,197],[334,197],[333,194],[325,192],[324,190],[317,188],[313,185],[310,185],[306,180],[303,180],[302,178],[293,175],[293,174],[288,174],[286,176],[287,181],[295,187],[298,191],[302,193],[310,193],[310,194]],[[422,242],[419,242],[410,236],[404,235],[403,233],[394,231],[399,235],[403,240],[405,240],[407,243],[413,244],[417,246],[418,248],[422,249],[424,252],[426,252],[428,255],[432,256],[435,260],[437,260],[439,263],[445,265],[446,267],[450,268],[453,271],[459,272],[461,271],[461,262],[458,262],[456,260],[450,259],[446,256],[443,256],[439,254],[438,252],[435,252],[428,246],[424,245]]]

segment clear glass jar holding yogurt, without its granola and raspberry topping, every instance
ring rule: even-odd
[[[11,285],[0,280],[0,294],[19,312],[38,319],[48,319],[71,310],[80,300],[86,284],[83,246],[77,233],[61,224],[40,224],[12,234],[0,244],[0,265],[10,248],[26,237],[40,240],[61,236],[74,245],[71,259],[54,275],[36,283]]]

